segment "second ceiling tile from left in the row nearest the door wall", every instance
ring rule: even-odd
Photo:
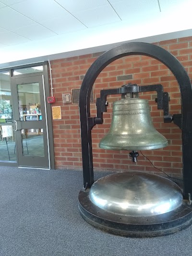
[[[43,39],[45,37],[52,37],[57,35],[56,33],[50,31],[48,28],[40,24],[32,24],[29,26],[16,28],[13,29],[12,32],[31,40]]]

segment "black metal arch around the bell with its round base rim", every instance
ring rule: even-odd
[[[182,102],[182,114],[181,114],[181,123],[182,123],[182,151],[183,151],[183,198],[188,200],[192,198],[192,85],[190,78],[185,71],[184,67],[180,64],[172,54],[167,50],[158,47],[156,45],[148,43],[127,43],[120,46],[114,47],[113,49],[108,50],[102,54],[89,68],[85,74],[84,81],[80,90],[79,98],[79,107],[80,107],[80,121],[81,121],[81,137],[82,137],[82,162],[83,162],[83,175],[84,175],[84,188],[90,188],[94,183],[93,175],[93,156],[92,156],[92,144],[91,144],[91,131],[89,130],[90,119],[90,94],[91,89],[94,85],[94,82],[99,75],[99,73],[112,61],[115,61],[121,57],[129,55],[144,55],[152,57],[163,64],[165,64],[168,69],[174,74],[178,84],[180,86],[181,92],[181,102]],[[83,193],[86,193],[83,194]],[[94,213],[91,210],[85,209],[85,198],[87,198],[88,190],[82,190],[79,193],[79,209],[83,218],[93,224],[94,226],[100,228],[99,221],[106,223],[104,229],[108,232],[118,233],[119,227],[117,227],[118,222],[112,221],[112,219],[107,220],[105,217],[94,220]],[[86,202],[87,203],[87,202]],[[191,201],[189,202],[191,203]],[[90,204],[90,208],[94,207]],[[192,205],[186,206],[186,209],[189,209],[188,214],[178,217],[176,222],[172,226],[172,232],[179,231],[184,227],[188,226],[192,222]],[[109,222],[108,222],[109,221]],[[93,223],[94,222],[94,223]],[[115,228],[110,227],[110,223],[115,226]],[[128,223],[127,223],[128,224]],[[163,228],[161,234],[168,234],[168,224],[163,223]],[[124,223],[124,226],[126,223]],[[138,225],[139,227],[139,225]],[[114,231],[115,229],[115,231]],[[169,230],[170,233],[170,230]],[[121,234],[121,232],[119,232]],[[125,234],[126,235],[126,234]],[[127,231],[129,236],[129,227]],[[136,233],[132,234],[133,236],[137,235]],[[141,234],[142,235],[142,234]],[[145,232],[144,236],[147,236]],[[152,232],[152,235],[156,235]]]

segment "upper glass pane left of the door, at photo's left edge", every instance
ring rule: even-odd
[[[9,72],[0,72],[0,123],[13,122]]]

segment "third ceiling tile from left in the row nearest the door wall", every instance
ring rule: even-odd
[[[41,24],[57,34],[63,34],[86,28],[86,26],[84,26],[81,22],[75,19],[71,14],[43,21],[41,22]]]

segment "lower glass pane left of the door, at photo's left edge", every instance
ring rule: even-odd
[[[13,125],[0,125],[0,161],[16,162]]]

